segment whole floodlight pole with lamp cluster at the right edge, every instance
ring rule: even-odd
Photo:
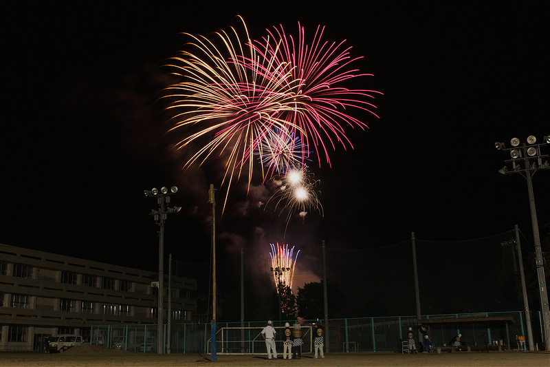
[[[538,220],[535,207],[535,197],[533,195],[533,174],[538,169],[550,169],[550,163],[547,160],[542,162],[542,158],[548,158],[548,154],[542,154],[542,148],[550,144],[550,135],[544,136],[542,144],[536,144],[535,136],[527,137],[527,144],[520,146],[518,138],[510,140],[510,148],[505,147],[504,143],[496,142],[494,147],[499,150],[509,151],[511,159],[505,160],[511,163],[511,169],[504,166],[499,169],[500,174],[521,174],[527,180],[527,191],[529,193],[529,207],[531,208],[531,224],[533,225],[533,238],[535,242],[536,267],[538,275],[538,289],[540,291],[540,304],[542,308],[542,323],[544,324],[544,349],[550,350],[550,309],[548,305],[548,291],[546,280],[544,278],[544,260],[542,259],[542,250],[540,249],[540,235],[538,233]]]

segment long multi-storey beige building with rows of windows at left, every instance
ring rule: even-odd
[[[156,324],[157,280],[152,271],[0,244],[0,351],[39,350],[46,335],[86,338],[92,325]],[[170,283],[173,322],[191,320],[197,280]]]

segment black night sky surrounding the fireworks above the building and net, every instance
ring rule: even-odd
[[[304,259],[298,279],[319,279],[307,262],[320,262],[322,240],[368,249],[412,231],[468,240],[518,224],[532,241],[525,179],[498,174],[508,156],[494,143],[550,134],[544,1],[15,3],[1,12],[4,244],[155,270],[148,213],[157,205],[143,191],[177,185],[171,204],[183,209],[168,218],[165,253],[208,262],[208,187],[221,185],[219,162],[182,171],[155,101],[173,80],[161,66],[184,43],[179,32],[208,36],[237,14],[252,38],[279,24],[295,33],[299,21],[309,36],[324,25],[324,39],[345,39],[364,56],[356,66],[373,76],[361,87],[384,93],[374,101],[380,119],[354,115],[369,125],[347,130],[355,149],[337,147],[333,167],[311,167],[325,216],[289,222],[285,243]],[[217,218],[218,255],[244,247],[263,269],[286,216],[250,205],[261,180],[248,196],[240,184]],[[533,187],[542,228],[550,171],[538,171]]]

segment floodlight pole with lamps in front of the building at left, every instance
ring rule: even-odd
[[[162,187],[160,191],[154,187],[151,190],[144,190],[145,196],[148,198],[157,198],[157,203],[159,205],[159,209],[151,209],[151,213],[149,213],[150,216],[153,216],[155,218],[155,222],[160,227],[159,232],[159,288],[158,288],[158,307],[157,307],[157,318],[158,318],[158,325],[157,325],[157,353],[162,354],[164,351],[163,348],[163,342],[164,342],[164,333],[162,331],[163,326],[163,289],[164,289],[164,222],[166,222],[166,218],[168,217],[169,213],[177,213],[181,210],[181,207],[168,207],[168,204],[170,203],[170,196],[177,193],[177,187],[173,186],[170,187],[170,190],[168,191],[167,187]],[[168,315],[170,317],[170,315]],[[168,335],[170,337],[170,335]]]

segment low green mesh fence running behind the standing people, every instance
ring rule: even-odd
[[[353,319],[330,319],[325,335],[325,348],[331,353],[398,352],[401,342],[407,339],[408,327],[412,327],[418,339],[422,333],[430,335],[435,346],[444,346],[457,334],[462,334],[463,346],[483,350],[497,345],[503,349],[519,350],[516,336],[525,336],[525,319],[520,311],[507,313],[470,313],[451,315],[426,315],[428,319],[454,319],[456,322],[435,324],[430,331],[421,331],[415,316],[405,317],[362,317]],[[478,322],[472,323],[475,317]],[[486,322],[483,319],[487,319]],[[494,319],[507,321],[494,322]],[[534,316],[533,319],[536,319]],[[274,322],[279,335],[285,321]],[[289,320],[294,322],[294,320]],[[313,321],[303,320],[302,353],[313,351]],[[217,324],[216,350],[225,354],[265,354],[265,342],[260,333],[265,322],[239,322]],[[164,326],[163,352],[167,353],[211,353],[210,323],[172,324],[168,342],[167,325]],[[91,344],[120,348],[134,352],[157,353],[156,325],[94,326],[91,329]],[[421,342],[420,340],[417,343]],[[419,345],[419,344],[417,344]],[[283,350],[283,338],[276,338],[276,348]]]

